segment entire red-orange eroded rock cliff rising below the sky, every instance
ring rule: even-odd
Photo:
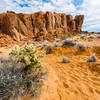
[[[81,31],[84,16],[77,15],[75,19],[64,13],[36,12],[23,14],[12,11],[0,14],[0,30],[15,40],[33,35],[35,37],[54,34],[57,31]]]

